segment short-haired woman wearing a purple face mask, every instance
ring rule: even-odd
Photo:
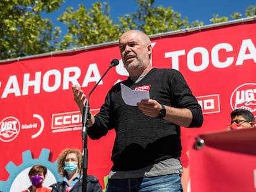
[[[28,177],[32,183],[27,190],[22,192],[50,192],[49,188],[43,186],[47,169],[43,165],[34,165],[28,172]]]

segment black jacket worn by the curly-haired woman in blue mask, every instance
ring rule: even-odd
[[[70,192],[82,192],[82,178],[80,179],[79,182],[75,183],[75,185],[72,187]],[[51,190],[52,192],[66,192],[65,188],[65,182],[57,182],[51,185],[53,189]],[[77,188],[79,190],[77,191]],[[101,185],[99,183],[98,178],[93,177],[92,175],[87,175],[87,192],[102,192]]]

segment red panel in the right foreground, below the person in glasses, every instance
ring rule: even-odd
[[[205,145],[189,151],[191,191],[256,191],[255,135],[256,128],[200,135]]]

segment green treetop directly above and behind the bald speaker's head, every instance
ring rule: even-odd
[[[203,24],[198,21],[189,24],[187,17],[182,19],[181,14],[173,10],[172,7],[156,7],[154,5],[155,0],[136,1],[139,4],[137,12],[119,17],[119,28],[122,30],[137,28],[148,35],[153,35]]]

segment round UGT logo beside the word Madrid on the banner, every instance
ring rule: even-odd
[[[14,140],[20,132],[20,122],[15,117],[6,117],[0,122],[0,140],[9,142]]]

